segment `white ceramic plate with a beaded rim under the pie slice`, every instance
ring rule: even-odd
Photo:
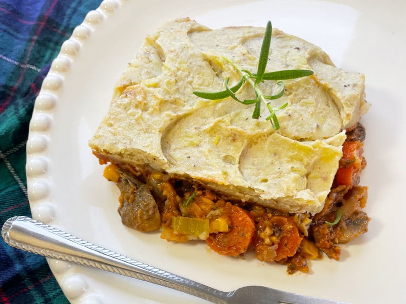
[[[27,143],[27,178],[34,218],[161,269],[221,289],[264,285],[351,303],[406,302],[403,284],[406,204],[403,188],[406,102],[406,12],[403,0],[114,1],[106,0],[63,44],[36,100]],[[102,177],[87,141],[105,115],[112,88],[143,37],[178,17],[218,28],[274,27],[321,46],[339,67],[366,75],[370,111],[369,232],[342,246],[337,262],[311,261],[311,274],[288,276],[282,265],[247,255],[230,258],[206,244],[175,244],[158,233],[127,229],[117,214],[118,190]],[[49,260],[73,303],[205,303],[153,284]]]

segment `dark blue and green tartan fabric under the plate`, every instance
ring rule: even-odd
[[[33,103],[63,41],[101,0],[0,0],[0,224],[31,216],[25,144]],[[0,241],[0,303],[67,303],[44,257]]]

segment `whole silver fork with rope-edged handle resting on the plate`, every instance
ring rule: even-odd
[[[94,245],[26,216],[9,218],[3,225],[2,237],[8,245],[21,250],[173,288],[218,304],[342,303],[263,286],[246,286],[229,292],[217,290]]]

